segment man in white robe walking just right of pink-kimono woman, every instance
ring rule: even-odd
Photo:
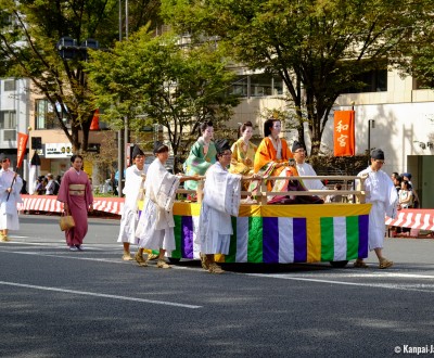
[[[136,238],[137,223],[139,221],[139,210],[143,204],[143,183],[146,178],[144,172],[144,153],[135,145],[132,150],[133,165],[127,168],[125,175],[125,195],[124,209],[120,217],[120,228],[117,242],[122,242],[124,246],[124,260],[131,260],[130,245],[137,245],[139,239]],[[143,256],[142,256],[143,257]],[[140,263],[139,263],[140,265]]]

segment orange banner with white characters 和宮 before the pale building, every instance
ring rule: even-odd
[[[354,111],[334,111],[334,156],[356,154]]]

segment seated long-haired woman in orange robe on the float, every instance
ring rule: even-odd
[[[288,146],[286,140],[280,138],[282,125],[279,119],[270,118],[264,124],[265,138],[260,142],[254,162],[254,172],[266,177],[296,176],[296,169],[289,166],[289,159],[293,154]],[[285,191],[286,180],[277,180],[276,183],[267,181],[269,191]],[[250,191],[253,194],[258,190],[258,183],[252,182]]]

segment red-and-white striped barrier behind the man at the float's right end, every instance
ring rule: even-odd
[[[386,225],[419,230],[434,230],[434,209],[401,209],[396,219],[386,217]]]

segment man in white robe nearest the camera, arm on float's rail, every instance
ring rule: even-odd
[[[231,216],[238,216],[241,199],[241,180],[260,179],[254,174],[243,177],[230,174],[228,166],[232,152],[228,141],[216,141],[217,162],[205,175],[204,199],[199,219],[197,241],[201,245],[201,260],[210,273],[222,273],[215,263],[215,254],[229,254],[230,238],[233,234]]]

